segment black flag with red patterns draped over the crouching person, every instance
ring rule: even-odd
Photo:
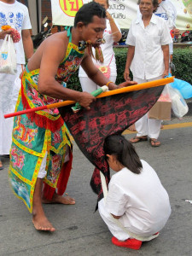
[[[62,118],[80,150],[96,166],[90,186],[102,199],[100,171],[108,184],[110,173],[103,153],[105,137],[122,133],[153,107],[164,86],[132,91],[96,99],[90,110],[81,109],[73,113],[71,107],[59,108]]]

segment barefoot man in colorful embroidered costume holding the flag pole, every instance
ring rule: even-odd
[[[91,2],[79,9],[71,30],[47,38],[22,73],[16,111],[61,100],[79,102],[82,107],[90,109],[90,103],[96,100],[94,96],[66,88],[68,79],[79,65],[96,84],[108,84],[109,90],[135,84],[125,82],[117,86],[108,81],[94,66],[89,51],[78,46],[83,40],[98,47],[105,27],[105,9]],[[15,195],[32,212],[32,222],[37,230],[54,231],[55,228],[44,214],[42,201],[75,203],[72,198],[62,196],[71,171],[72,146],[58,110],[49,109],[15,117],[10,155],[9,180]]]

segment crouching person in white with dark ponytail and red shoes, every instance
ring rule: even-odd
[[[108,136],[103,149],[116,173],[108,195],[98,203],[99,212],[113,234],[113,244],[137,250],[166,225],[171,214],[169,196],[154,169],[139,159],[125,137]]]

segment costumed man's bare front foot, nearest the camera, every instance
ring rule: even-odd
[[[32,214],[32,223],[34,224],[35,229],[38,231],[55,231],[55,228],[44,216],[44,214]]]

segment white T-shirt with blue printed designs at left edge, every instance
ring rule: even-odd
[[[25,53],[23,49],[23,42],[21,37],[21,30],[31,29],[32,25],[29,19],[28,9],[26,5],[15,1],[15,3],[0,2],[0,31],[1,26],[9,25],[20,32],[20,42],[15,43],[15,50],[17,54],[17,64],[25,64]],[[0,48],[3,40],[0,39]]]

